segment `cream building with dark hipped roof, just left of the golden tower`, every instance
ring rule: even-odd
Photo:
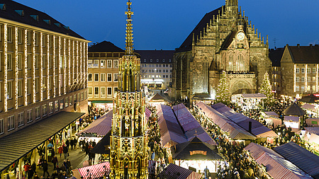
[[[88,98],[96,108],[112,107],[118,91],[118,59],[124,52],[106,41],[89,47]]]

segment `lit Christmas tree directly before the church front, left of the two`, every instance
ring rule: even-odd
[[[219,79],[217,91],[216,91],[216,102],[227,104],[230,102],[230,83],[226,76],[226,72],[223,71],[221,78]]]

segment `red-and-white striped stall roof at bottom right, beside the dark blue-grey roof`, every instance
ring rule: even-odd
[[[250,151],[252,158],[267,168],[267,173],[272,178],[311,178],[310,175],[302,171],[297,166],[287,161],[283,156],[276,153],[272,149],[260,146],[259,144],[250,143],[245,147],[246,151]]]

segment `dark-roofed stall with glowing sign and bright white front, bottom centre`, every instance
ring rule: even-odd
[[[215,146],[202,142],[197,136],[189,142],[172,146],[171,151],[176,165],[194,168],[197,173],[203,173],[205,168],[208,168],[210,173],[217,173],[218,161],[223,161]]]

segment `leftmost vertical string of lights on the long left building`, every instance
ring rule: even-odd
[[[8,25],[4,24],[4,112],[8,111]]]

